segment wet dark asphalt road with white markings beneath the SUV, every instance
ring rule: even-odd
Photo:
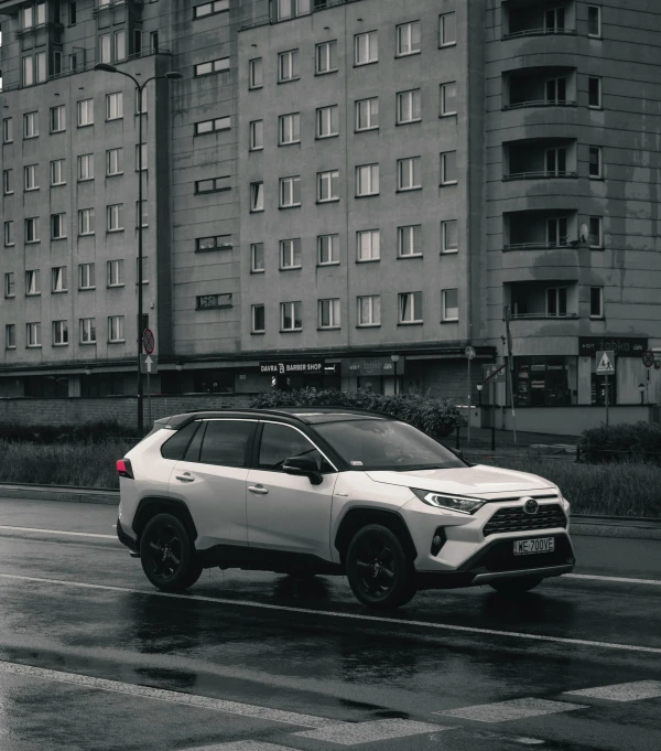
[[[334,578],[214,570],[159,594],[84,536],[115,518],[0,500],[0,526],[55,532],[0,528],[0,751],[661,749],[661,541],[575,537],[602,578],[382,615]]]

